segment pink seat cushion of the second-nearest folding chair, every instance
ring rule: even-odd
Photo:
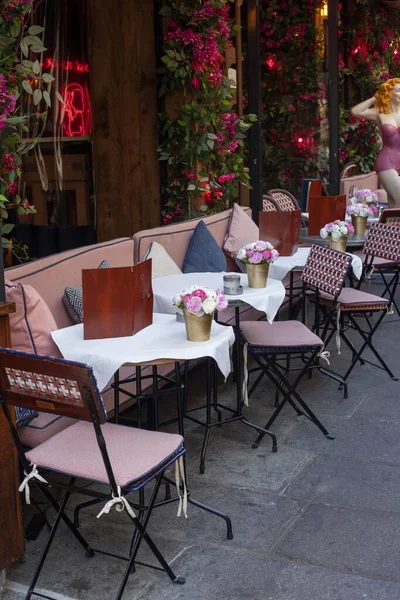
[[[324,342],[300,321],[245,321],[240,323],[250,346],[323,346]]]

